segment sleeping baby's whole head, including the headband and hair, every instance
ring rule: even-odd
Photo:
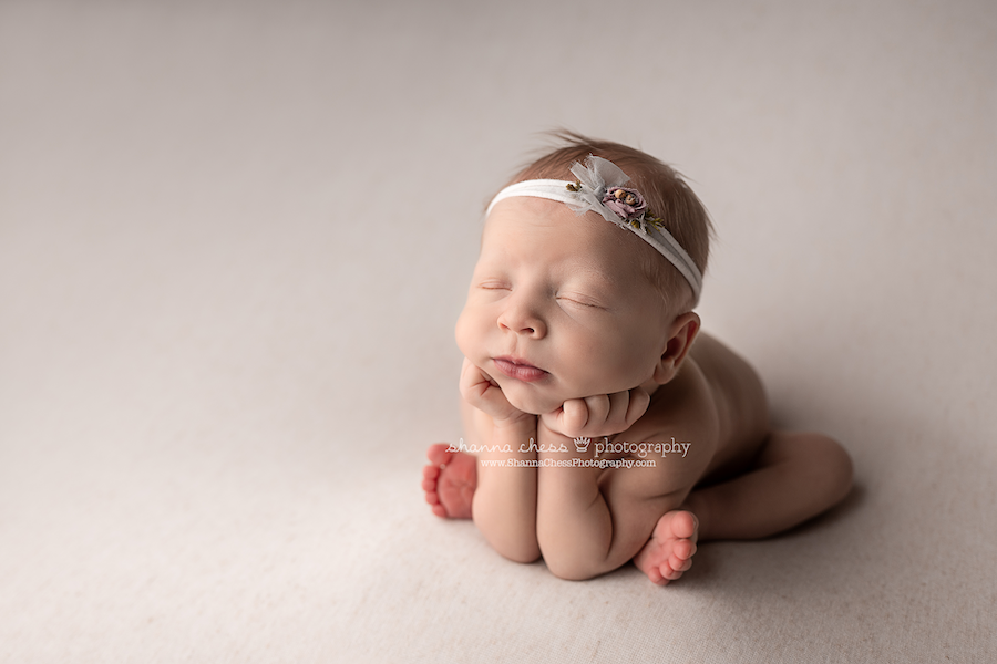
[[[709,248],[706,210],[675,170],[559,138],[490,206],[456,326],[464,355],[534,414],[671,380],[699,329]]]

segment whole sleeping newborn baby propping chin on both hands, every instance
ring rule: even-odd
[[[430,447],[433,512],[564,579],[633,560],[666,584],[697,541],[840,501],[847,453],[773,430],[754,371],[692,311],[709,220],[668,166],[578,135],[489,207],[456,324],[465,437]]]

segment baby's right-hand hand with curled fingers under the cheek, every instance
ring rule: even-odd
[[[650,395],[644,387],[572,398],[541,416],[544,425],[568,438],[598,438],[625,432],[647,411]]]

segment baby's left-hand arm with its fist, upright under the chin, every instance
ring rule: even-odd
[[[485,539],[517,562],[539,558],[536,541],[536,416],[514,408],[502,390],[469,360],[461,370],[461,394],[474,408],[472,426],[480,448],[472,516]]]

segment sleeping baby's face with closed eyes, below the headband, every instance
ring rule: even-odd
[[[513,406],[536,415],[647,384],[670,321],[637,264],[639,245],[595,212],[541,198],[498,203],[458,345]]]

